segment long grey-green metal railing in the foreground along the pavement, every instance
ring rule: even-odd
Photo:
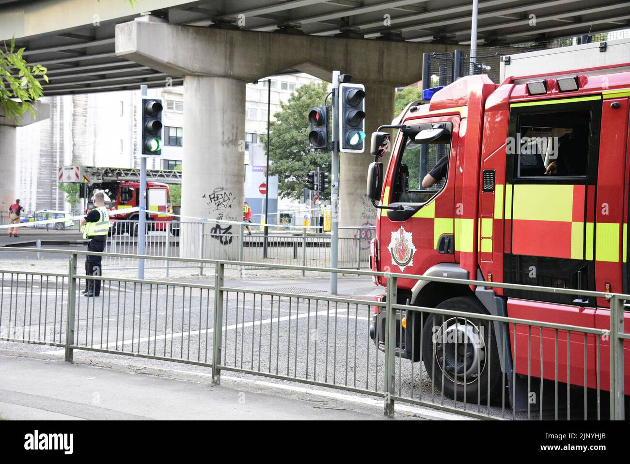
[[[86,350],[207,366],[215,383],[222,371],[234,371],[340,388],[384,398],[388,416],[394,414],[396,402],[406,402],[485,419],[624,418],[623,350],[630,335],[624,333],[623,321],[628,295],[580,291],[582,298],[610,298],[610,328],[593,329],[481,314],[473,305],[466,310],[415,307],[400,304],[397,298],[399,278],[488,285],[481,281],[344,271],[386,278],[387,298],[374,302],[313,295],[316,292],[307,288],[252,290],[226,285],[224,280],[226,266],[233,264],[325,274],[338,269],[169,258],[173,265],[190,261],[214,267],[209,283],[186,283],[87,276],[77,272],[77,258],[98,253],[47,252],[65,254],[69,271],[0,269],[1,341],[57,346],[66,361],[72,361],[74,350]],[[87,280],[101,282],[99,298],[79,293]],[[370,325],[381,311],[389,317],[383,327],[385,342],[377,347]],[[396,320],[403,319],[407,327],[411,324],[406,329],[412,332],[411,352],[418,343],[422,363],[399,356],[405,347],[403,324]],[[493,325],[498,331],[491,329]],[[417,338],[415,330],[420,331]],[[449,339],[452,334],[462,338]],[[515,368],[505,367],[508,360]],[[500,385],[501,394],[494,399],[488,394],[491,383]],[[529,399],[527,407],[510,407],[522,393]]]

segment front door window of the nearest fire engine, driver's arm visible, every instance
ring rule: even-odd
[[[442,190],[449,168],[450,134],[447,139],[418,144],[413,134],[405,135],[398,156],[393,201],[425,203]]]

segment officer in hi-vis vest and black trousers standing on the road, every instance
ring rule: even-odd
[[[81,219],[81,232],[84,239],[89,239],[88,251],[103,252],[107,233],[110,230],[110,215],[105,207],[105,193],[97,191],[93,201],[95,208]],[[102,275],[101,256],[85,257],[85,274],[86,276]],[[101,294],[101,281],[86,280],[85,290],[82,293],[86,297],[98,297]]]

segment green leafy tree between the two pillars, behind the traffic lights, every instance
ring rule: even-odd
[[[281,111],[274,114],[270,124],[269,174],[278,176],[278,195],[285,198],[301,198],[307,184],[309,171],[318,166],[330,173],[331,153],[309,149],[309,110],[324,103],[328,94],[327,82],[304,84],[291,94],[286,103],[280,103]],[[266,135],[261,137],[266,147]],[[328,188],[321,198],[330,196]]]

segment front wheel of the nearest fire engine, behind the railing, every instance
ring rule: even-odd
[[[445,300],[436,308],[487,314],[474,297]],[[430,314],[423,328],[422,360],[433,387],[450,399],[476,403],[501,390],[501,366],[487,320]],[[466,393],[464,395],[464,387]],[[465,397],[464,397],[465,396]]]

